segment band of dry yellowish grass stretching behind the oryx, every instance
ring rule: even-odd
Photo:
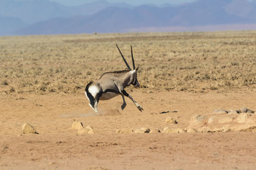
[[[256,31],[162,32],[0,37],[0,92],[82,93],[125,69],[115,43],[125,56],[132,44],[142,90],[256,87]]]

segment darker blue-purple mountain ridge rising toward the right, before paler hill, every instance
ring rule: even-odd
[[[242,6],[242,7],[241,7]],[[244,0],[201,0],[182,6],[110,7],[90,16],[54,18],[17,34],[125,32],[148,27],[256,24],[256,5]]]

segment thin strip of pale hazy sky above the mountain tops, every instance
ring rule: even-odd
[[[79,4],[86,4],[86,3],[92,3],[93,1],[97,0],[49,0],[54,1],[60,4],[66,4],[66,5],[79,5]],[[140,4],[164,4],[164,3],[170,3],[170,4],[182,4],[182,3],[191,3],[196,0],[107,0],[109,3],[127,3],[127,4],[133,4],[133,5],[140,5]]]

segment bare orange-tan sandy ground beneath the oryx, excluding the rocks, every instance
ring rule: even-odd
[[[195,115],[219,108],[256,110],[256,92],[131,92],[140,112],[122,97],[100,101],[96,116],[86,97],[11,94],[0,96],[0,169],[256,169],[256,132],[157,132],[176,118],[186,127]],[[169,112],[168,112],[169,111]],[[168,113],[161,113],[168,112]],[[77,134],[74,121],[92,125]],[[22,134],[28,122],[38,134]],[[152,133],[116,133],[148,127]]]

